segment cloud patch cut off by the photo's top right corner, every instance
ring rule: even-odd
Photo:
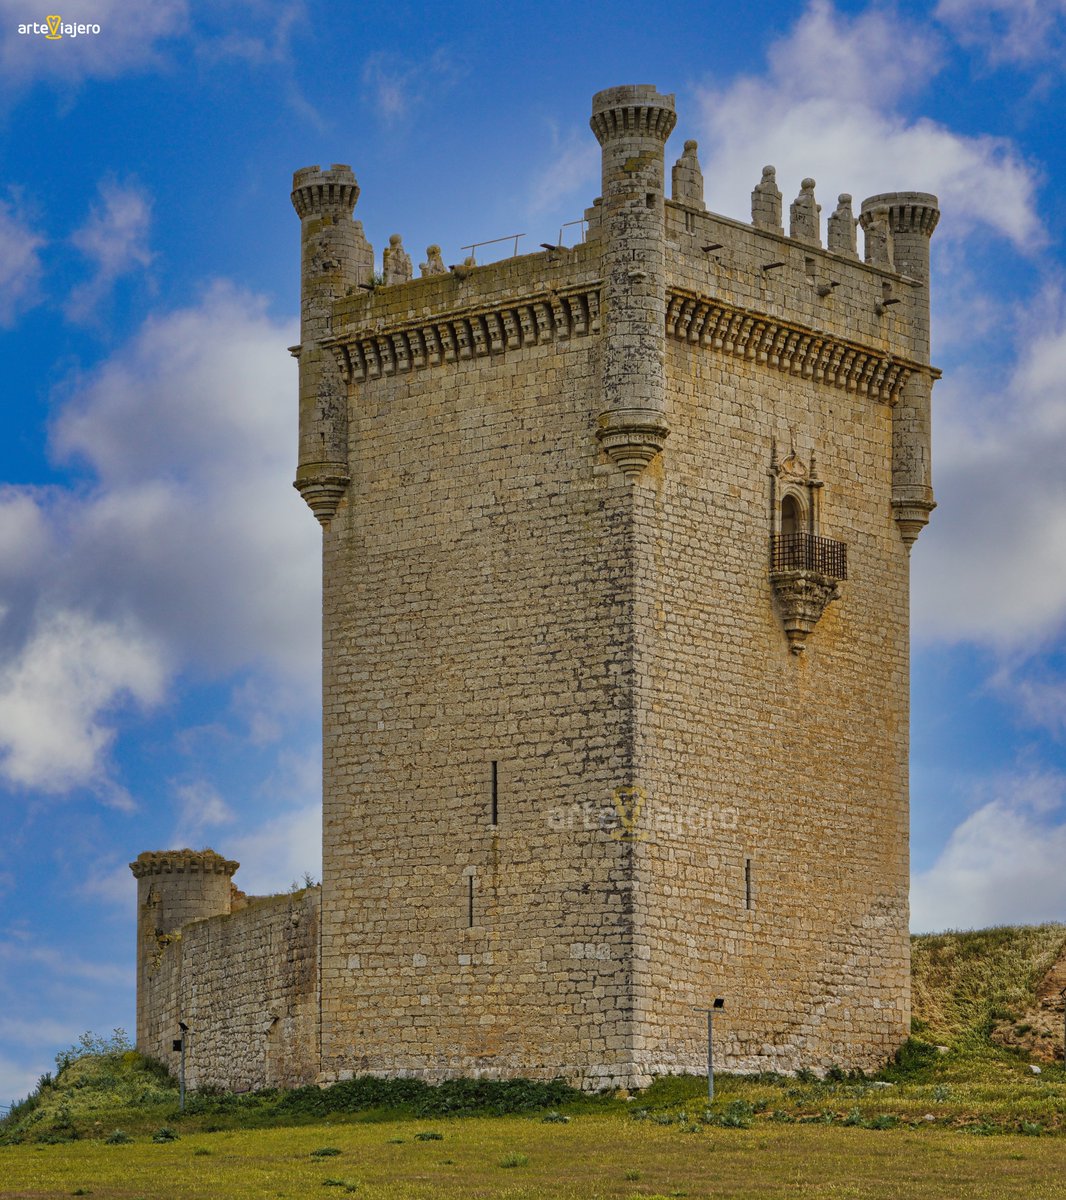
[[[1066,53],[1066,0],[940,0],[935,16],[993,66]]]

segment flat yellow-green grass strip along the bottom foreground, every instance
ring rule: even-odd
[[[418,1133],[439,1133],[421,1141]],[[316,1157],[316,1150],[340,1154]],[[0,1148],[0,1195],[134,1200],[743,1196],[1059,1198],[1053,1138],[825,1126],[690,1134],[615,1115],[469,1117]],[[515,1165],[508,1165],[515,1164]]]

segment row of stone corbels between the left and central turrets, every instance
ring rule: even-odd
[[[516,350],[523,346],[598,334],[599,282],[545,290],[412,320],[393,328],[354,329],[325,342],[348,383]]]

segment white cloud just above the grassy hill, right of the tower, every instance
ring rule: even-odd
[[[1038,924],[1066,910],[1066,778],[998,780],[911,881],[911,929]]]

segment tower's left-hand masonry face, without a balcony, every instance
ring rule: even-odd
[[[631,737],[629,491],[597,466],[593,323],[552,313],[597,269],[585,246],[352,302],[369,329],[514,308],[353,385],[324,542],[325,1079],[627,1075],[628,847],[558,820],[610,805]]]

